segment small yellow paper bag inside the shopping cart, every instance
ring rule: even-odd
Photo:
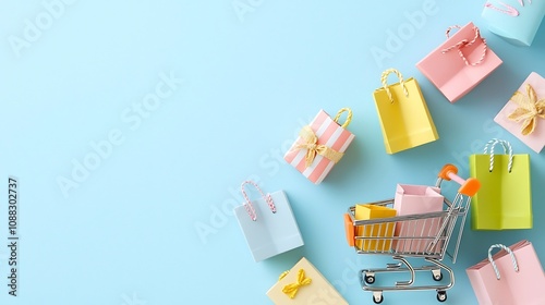
[[[355,220],[368,220],[377,218],[395,217],[396,210],[377,205],[356,205]],[[387,252],[391,247],[391,237],[393,236],[395,222],[358,225],[355,234],[358,236],[371,237],[366,240],[356,240],[355,246],[362,251]],[[378,237],[378,239],[377,239]],[[389,237],[389,239],[380,239]],[[377,240],[374,240],[377,239]]]

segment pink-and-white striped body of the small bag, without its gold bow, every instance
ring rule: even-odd
[[[342,111],[344,110],[341,109],[339,113]],[[350,122],[350,117],[351,112],[349,112],[347,123]],[[344,125],[348,125],[347,123],[344,123]],[[318,112],[308,126],[317,137],[316,146],[325,145],[341,154],[347,150],[352,139],[354,139],[354,135],[351,132],[347,131],[337,121],[331,119],[324,110]],[[326,178],[336,162],[318,154],[311,166],[306,167],[306,155],[308,150],[298,148],[298,146],[302,144],[305,144],[305,139],[299,136],[283,158],[310,181],[318,184]]]

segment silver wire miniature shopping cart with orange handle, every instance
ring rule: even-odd
[[[465,217],[470,207],[471,197],[479,191],[481,183],[476,179],[463,180],[457,175],[458,169],[452,164],[446,164],[440,173],[436,187],[440,190],[441,182],[455,181],[461,185],[452,202],[444,199],[444,210],[408,216],[396,216],[390,218],[377,218],[370,220],[355,219],[355,206],[349,208],[344,215],[344,225],[347,230],[347,241],[350,246],[356,249],[358,254],[390,255],[396,264],[387,264],[386,268],[363,269],[360,272],[360,280],[364,291],[373,292],[373,301],[379,304],[384,301],[384,291],[417,291],[435,290],[437,300],[447,300],[447,290],[455,284],[455,273],[451,268],[443,264],[441,260],[447,254],[452,264],[456,263],[458,249],[462,237]],[[393,199],[371,203],[377,207],[388,207],[393,205]],[[459,228],[455,230],[455,227]],[[458,235],[452,236],[457,231]],[[397,232],[388,234],[388,232]],[[402,232],[402,234],[399,234]],[[457,239],[453,251],[447,251],[452,237]],[[408,258],[422,258],[426,266],[413,267]],[[416,271],[432,272],[435,281],[441,281],[443,272],[446,270],[450,281],[446,284],[416,285]],[[375,283],[375,276],[383,272],[408,272],[408,281],[398,281],[395,285],[378,286]],[[422,272],[419,272],[422,273]]]

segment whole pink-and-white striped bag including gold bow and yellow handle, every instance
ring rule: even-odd
[[[348,112],[348,117],[340,125],[338,121],[343,112]],[[310,181],[320,183],[354,139],[354,135],[347,130],[351,119],[350,108],[339,110],[335,119],[320,110],[311,124],[301,130],[284,160]]]

